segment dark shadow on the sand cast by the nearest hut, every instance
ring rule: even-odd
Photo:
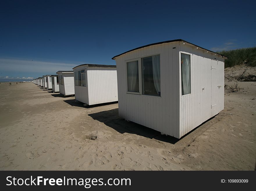
[[[171,144],[175,144],[179,141],[179,139],[170,135],[161,135],[159,131],[145,127],[140,124],[136,124],[134,122],[128,122],[125,119],[118,117],[118,108],[88,115],[93,119],[98,120],[99,122],[102,122],[105,125],[115,129],[119,133],[136,134],[150,139],[154,138],[156,140],[168,142]]]

